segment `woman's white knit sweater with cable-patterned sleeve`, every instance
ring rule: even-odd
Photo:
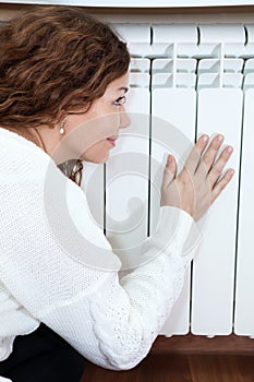
[[[49,164],[51,184],[46,178]],[[45,182],[52,191],[66,186],[76,230],[69,230],[53,196],[46,211]],[[2,128],[0,198],[0,361],[11,354],[16,335],[44,322],[94,363],[112,370],[136,366],[182,289],[194,253],[182,255],[192,217],[160,207],[156,232],[142,247],[144,259],[153,260],[120,278],[121,262],[93,220],[85,192],[41,148]],[[96,266],[100,259],[101,268]]]

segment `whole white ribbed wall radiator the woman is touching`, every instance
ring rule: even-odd
[[[253,336],[254,24],[114,26],[132,53],[126,110],[133,123],[106,166],[85,164],[92,213],[114,251],[135,262],[135,246],[157,223],[166,153],[179,159],[201,133],[221,132],[234,147],[228,167],[235,174],[210,208],[161,334]]]

